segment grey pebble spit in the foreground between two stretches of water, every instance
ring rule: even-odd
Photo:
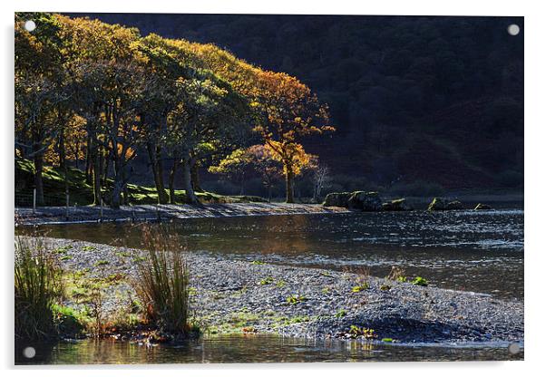
[[[142,251],[44,240],[63,250],[66,271],[123,276],[106,289],[105,312],[115,312],[124,297],[134,297],[127,281],[136,273],[135,258]],[[209,333],[351,338],[353,325],[374,329],[378,340],[404,343],[523,342],[523,303],[518,300],[222,256],[189,253],[187,260],[192,314]],[[369,288],[353,292],[364,281]]]

